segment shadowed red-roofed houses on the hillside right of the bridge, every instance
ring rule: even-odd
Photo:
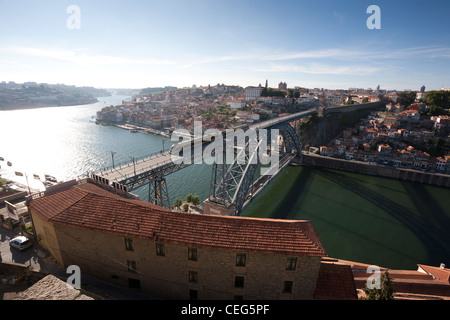
[[[328,146],[320,154],[401,168],[450,173],[450,154],[445,150],[450,141],[450,117],[426,116],[426,106],[414,103],[403,110],[400,104],[389,103],[386,112],[372,113],[354,128]],[[430,149],[442,146],[440,156]]]

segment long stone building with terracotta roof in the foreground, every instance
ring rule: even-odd
[[[172,212],[93,181],[28,202],[64,267],[168,299],[313,299],[325,250],[310,221]]]

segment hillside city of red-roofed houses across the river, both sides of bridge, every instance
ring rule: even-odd
[[[306,151],[379,165],[450,172],[450,117],[445,109],[430,110],[423,102],[427,93],[424,86],[419,91],[397,92],[381,90],[380,86],[375,90],[291,89],[280,82],[272,89],[266,81],[265,86],[245,88],[217,84],[148,91],[142,90],[130,102],[103,108],[96,115],[97,123],[128,124],[168,135],[177,128],[192,130],[194,121],[202,121],[205,130],[227,129],[309,108],[320,112],[322,108],[386,101],[384,111],[361,119],[328,145],[307,145]]]

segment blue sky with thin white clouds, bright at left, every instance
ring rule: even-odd
[[[449,12],[448,0],[0,0],[0,81],[450,88]]]

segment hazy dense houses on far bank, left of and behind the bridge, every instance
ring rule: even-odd
[[[217,84],[167,90],[105,107],[97,112],[97,123],[129,123],[170,131],[189,130],[194,121],[202,121],[204,128],[228,128],[277,117],[294,104],[305,108],[318,106],[313,94],[302,94],[297,98],[263,97],[263,89],[261,86],[241,88]],[[228,112],[217,112],[218,107],[228,107]]]

